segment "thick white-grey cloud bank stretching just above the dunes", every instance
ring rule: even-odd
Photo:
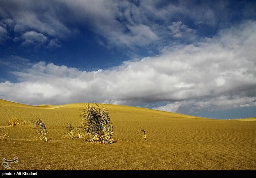
[[[213,38],[168,47],[159,56],[124,61],[108,70],[29,64],[13,70],[20,82],[0,83],[0,97],[27,104],[164,101],[167,105],[154,109],[172,112],[255,106],[255,29],[256,22],[247,21]]]

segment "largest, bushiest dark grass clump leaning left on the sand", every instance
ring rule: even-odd
[[[98,105],[93,107],[91,104],[84,104],[81,113],[81,127],[86,134],[85,139],[89,139],[91,142],[113,144],[115,142],[113,140],[113,125],[108,109],[106,105],[104,106],[102,105],[102,109],[100,109]]]

